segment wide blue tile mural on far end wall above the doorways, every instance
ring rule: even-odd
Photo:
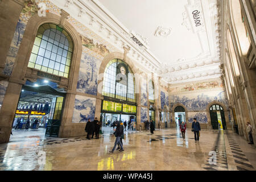
[[[213,91],[214,92],[214,91]],[[226,106],[228,106],[228,100],[225,98],[224,91],[220,92],[218,91],[216,93],[210,93],[210,96],[208,94],[202,93],[200,95],[187,95],[186,96],[170,96],[171,97],[171,107],[174,106],[177,103],[183,104],[189,111],[193,110],[205,110],[208,104],[213,101],[222,102]],[[162,98],[162,95],[161,95]],[[162,101],[161,101],[162,103]]]

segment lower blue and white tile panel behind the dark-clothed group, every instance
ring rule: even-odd
[[[96,109],[96,98],[76,96],[73,111],[73,123],[93,121]]]

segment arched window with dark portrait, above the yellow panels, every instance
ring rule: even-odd
[[[130,67],[119,59],[108,63],[104,72],[103,95],[135,102],[135,81]]]

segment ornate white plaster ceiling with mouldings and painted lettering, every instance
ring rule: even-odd
[[[52,2],[170,84],[221,76],[222,1]]]

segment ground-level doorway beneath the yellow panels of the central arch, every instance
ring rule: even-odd
[[[114,122],[126,122],[126,131],[135,131],[137,125],[137,119],[135,115],[129,114],[113,114],[113,113],[101,113],[102,117],[102,133],[112,134],[114,132]]]

